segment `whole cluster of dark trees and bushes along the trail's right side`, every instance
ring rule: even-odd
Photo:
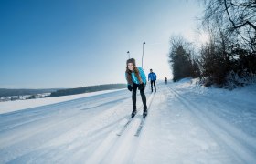
[[[208,42],[194,50],[184,38],[170,39],[174,81],[200,77],[205,86],[229,88],[255,82],[256,0],[205,0],[203,5],[201,30]]]

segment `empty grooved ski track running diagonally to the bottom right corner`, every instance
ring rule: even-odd
[[[219,118],[205,108],[201,108],[171,87],[168,88],[201,121],[200,124],[219,142],[219,145],[225,145],[223,148],[233,153],[232,156],[237,162],[253,163],[253,161],[256,161],[256,145],[251,145],[251,143],[256,143],[255,138],[244,135],[244,133],[229,125],[224,119]]]

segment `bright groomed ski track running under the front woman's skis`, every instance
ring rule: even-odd
[[[148,115],[150,117],[152,103],[154,102],[155,93],[147,97]],[[86,163],[132,163],[136,148],[140,141],[139,137],[135,137],[135,133],[139,128],[141,119],[143,118],[143,106],[138,109],[128,127],[123,131],[121,136],[116,135],[116,130],[113,130],[102,142],[99,148],[94,150],[94,153],[86,161]],[[130,115],[129,115],[130,117]],[[146,118],[145,118],[146,119]],[[144,123],[146,126],[146,120]],[[123,126],[121,126],[123,128]],[[119,130],[119,129],[117,129]],[[143,128],[141,133],[143,133]]]

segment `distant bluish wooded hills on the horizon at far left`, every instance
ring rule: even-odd
[[[58,90],[57,88],[50,89],[7,89],[0,88],[0,97],[12,97],[12,96],[24,96],[24,95],[36,95],[43,93],[51,93]]]

